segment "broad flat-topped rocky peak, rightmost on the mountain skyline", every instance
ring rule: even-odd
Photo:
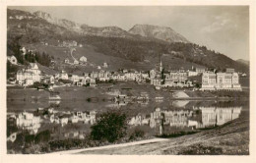
[[[170,27],[135,25],[129,30],[129,32],[132,34],[139,34],[145,37],[157,38],[167,42],[189,42],[184,36],[177,33]]]

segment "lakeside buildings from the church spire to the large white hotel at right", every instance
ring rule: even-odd
[[[239,75],[234,72],[234,69],[227,68],[225,72],[206,71],[205,68],[196,68],[192,71],[171,71],[163,72],[163,67],[160,61],[160,70],[150,71],[151,84],[156,87],[193,86],[190,77],[201,76],[202,83],[200,90],[235,90],[241,91],[239,83]]]

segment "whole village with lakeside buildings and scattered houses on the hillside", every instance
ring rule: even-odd
[[[61,46],[76,47],[76,41],[66,42],[64,41]],[[82,46],[82,45],[81,45]],[[26,53],[26,48],[21,49],[23,53]],[[64,64],[72,65],[86,65],[87,57],[82,56],[79,60],[73,57],[72,53],[75,48],[71,48],[71,56],[74,63],[71,63],[68,58],[64,60]],[[19,64],[15,56],[8,56],[8,61],[13,64]],[[54,61],[52,61],[54,62]],[[112,82],[112,81],[135,81],[140,83],[150,83],[160,89],[162,87],[193,87],[199,90],[235,90],[241,91],[241,85],[239,83],[239,76],[245,77],[246,74],[236,73],[234,69],[226,68],[226,70],[218,71],[216,69],[207,70],[203,67],[193,67],[190,70],[165,70],[160,64],[156,65],[156,68],[149,70],[148,72],[134,70],[134,69],[119,69],[115,72],[103,70],[107,68],[107,63],[102,63],[102,68],[97,66],[97,71],[84,72],[83,76],[67,73],[61,70],[55,75],[48,75],[41,72],[36,63],[30,63],[25,69],[19,70],[16,74],[16,78],[8,79],[9,83],[17,84],[20,86],[30,86],[34,82],[41,82],[48,84],[48,88],[52,89],[54,86],[60,84],[59,81],[65,85],[76,86],[96,86],[100,82]]]

